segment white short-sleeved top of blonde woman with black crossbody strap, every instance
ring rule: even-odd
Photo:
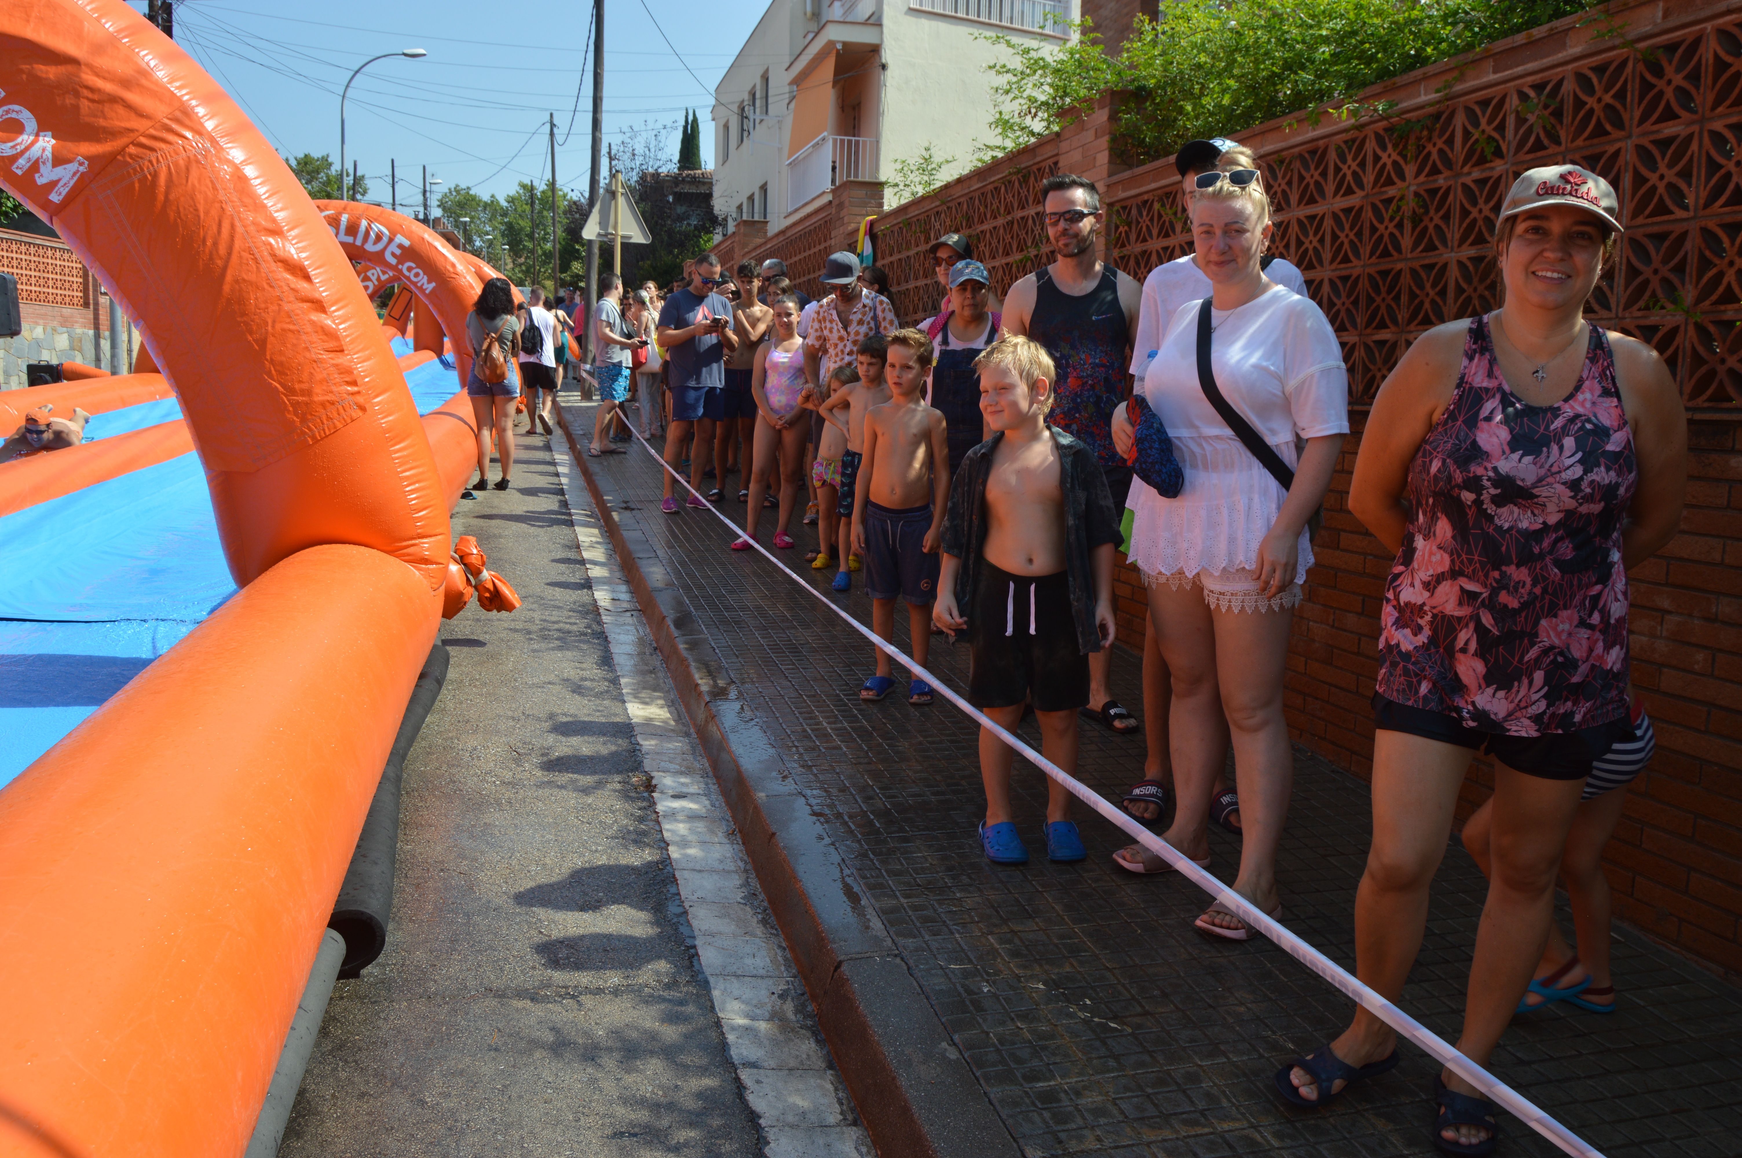
[[[1131,561],[1150,575],[1251,568],[1287,496],[1204,397],[1198,308],[1197,301],[1179,306],[1138,387],[1167,427],[1185,472],[1178,498],[1143,488],[1134,503]],[[1273,286],[1237,310],[1212,310],[1211,320],[1216,385],[1282,461],[1300,461],[1296,439],[1348,434],[1348,371],[1319,306]],[[1303,529],[1296,583],[1310,566]]]

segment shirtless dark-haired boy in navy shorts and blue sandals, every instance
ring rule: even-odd
[[[888,336],[885,383],[888,402],[864,416],[864,461],[854,491],[852,550],[866,561],[871,630],[895,637],[895,601],[908,604],[913,658],[930,653],[932,603],[937,599],[937,538],[949,500],[949,446],[944,414],[925,404],[932,340],[918,329]],[[843,495],[847,482],[841,482]],[[888,653],[878,648],[876,676],[861,700],[881,700],[895,686]],[[932,702],[932,688],[915,677],[908,704]]]

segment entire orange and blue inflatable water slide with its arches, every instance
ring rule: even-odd
[[[131,374],[0,394],[5,434],[92,414],[0,463],[0,1156],[254,1153],[481,568],[448,515],[495,270],[314,204],[120,0],[7,5],[0,185],[143,336]]]

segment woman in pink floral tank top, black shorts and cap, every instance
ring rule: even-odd
[[[1350,510],[1397,561],[1380,611],[1373,848],[1355,972],[1395,1000],[1427,926],[1470,757],[1495,759],[1491,883],[1462,1050],[1486,1066],[1542,954],[1556,869],[1592,763],[1632,735],[1627,568],[1674,535],[1686,418],[1664,360],[1583,305],[1620,233],[1610,185],[1533,169],[1496,223],[1505,306],[1423,334],[1373,404]],[[1397,1064],[1357,1010],[1275,1074],[1322,1106]],[[1495,1106],[1444,1071],[1434,1141],[1495,1149]]]

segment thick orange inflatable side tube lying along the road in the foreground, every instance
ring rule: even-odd
[[[244,1151],[437,615],[312,547],[0,792],[0,1155]]]

